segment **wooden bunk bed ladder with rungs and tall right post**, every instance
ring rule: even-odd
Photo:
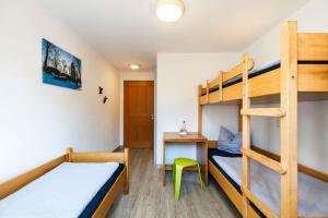
[[[289,22],[281,27],[281,94],[280,108],[250,108],[247,63],[243,72],[243,216],[249,217],[249,201],[267,217],[279,217],[250,191],[250,159],[278,172],[281,178],[281,217],[297,217],[297,25]],[[281,161],[250,148],[250,117],[280,118]]]

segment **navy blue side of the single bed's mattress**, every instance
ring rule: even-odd
[[[102,189],[97,192],[97,194],[92,198],[92,201],[86,205],[84,210],[79,216],[80,218],[90,218],[98,208],[106,193],[110,190],[119,174],[125,169],[125,165],[119,164],[118,168],[115,170],[113,175],[107,180],[107,182],[102,186]]]

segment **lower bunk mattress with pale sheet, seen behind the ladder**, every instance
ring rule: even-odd
[[[209,149],[210,161],[241,193],[242,156]],[[276,214],[280,214],[280,175],[250,161],[250,191]],[[298,216],[328,217],[328,183],[298,172]]]

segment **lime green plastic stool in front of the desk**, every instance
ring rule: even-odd
[[[203,191],[199,162],[197,160],[189,159],[189,158],[175,158],[174,164],[173,164],[173,177],[172,177],[173,182],[174,182],[175,201],[179,201],[179,197],[180,197],[180,187],[181,187],[181,178],[183,178],[184,168],[192,167],[192,166],[197,166],[200,189],[201,189],[201,191]]]

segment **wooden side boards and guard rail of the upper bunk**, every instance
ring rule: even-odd
[[[289,26],[292,23],[289,23]],[[284,32],[288,32],[288,29]],[[295,44],[294,46],[298,48],[297,53],[295,53],[295,56],[298,57],[298,61],[328,61],[327,34],[307,34],[295,32],[294,35],[296,36],[294,36],[294,38],[291,40],[293,40]],[[286,39],[284,39],[284,41],[288,44]],[[281,61],[282,58],[283,56],[281,55]],[[248,73],[250,70],[253,70],[253,68],[254,61],[247,55],[245,55],[242,63],[237,64],[229,72],[220,71],[219,76],[213,81],[208,81],[204,87],[199,85],[199,105],[242,101],[242,82],[225,88],[222,87],[224,82],[242,75],[244,70],[246,70]],[[297,71],[297,78],[295,80],[295,83],[297,84],[296,88],[298,92],[298,100],[313,101],[328,99],[328,64],[296,63],[295,70]],[[255,102],[257,100],[259,104],[279,102],[279,95],[282,88],[281,86],[283,85],[282,82],[281,68],[251,77],[248,80],[248,97],[254,98]],[[214,87],[219,89],[215,92],[210,92]]]

